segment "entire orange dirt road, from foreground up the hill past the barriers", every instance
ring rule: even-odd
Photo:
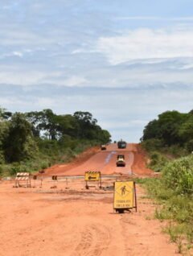
[[[137,164],[134,159],[135,155],[140,159],[137,145],[128,145],[124,150],[128,167],[125,170],[119,167],[120,171],[115,167],[114,147],[109,145],[107,151],[96,153],[84,163],[55,166],[47,172],[81,175],[84,167],[99,168],[103,158],[101,170],[105,174],[130,172],[133,168],[143,174],[142,169],[138,170],[143,163]],[[144,172],[147,175],[148,170],[145,168]],[[113,181],[107,179],[103,186]],[[53,184],[57,188],[51,189]],[[162,234],[160,222],[152,218],[154,204],[138,186],[138,213],[117,214],[113,213],[112,191],[85,190],[81,179],[68,180],[68,184],[65,180],[53,183],[47,179],[42,188],[39,180],[36,188],[12,188],[12,185],[13,182],[0,183],[1,256],[176,255],[175,245]]]

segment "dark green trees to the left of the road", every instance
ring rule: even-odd
[[[54,142],[70,147],[70,142],[107,143],[111,135],[97,125],[89,112],[55,114],[51,109],[11,113],[0,108],[0,164],[31,159]]]

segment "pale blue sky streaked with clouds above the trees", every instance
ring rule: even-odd
[[[0,106],[89,111],[138,142],[193,109],[192,0],[0,0]]]

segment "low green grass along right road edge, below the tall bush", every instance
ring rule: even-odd
[[[166,187],[162,178],[134,180],[142,184],[148,197],[156,202],[154,217],[168,221],[163,232],[170,236],[170,242],[176,243],[179,254],[187,254],[193,247],[193,196],[176,194],[174,189]]]

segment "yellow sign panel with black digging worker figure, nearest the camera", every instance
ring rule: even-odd
[[[116,181],[114,183],[114,209],[136,207],[136,194],[133,181]]]

